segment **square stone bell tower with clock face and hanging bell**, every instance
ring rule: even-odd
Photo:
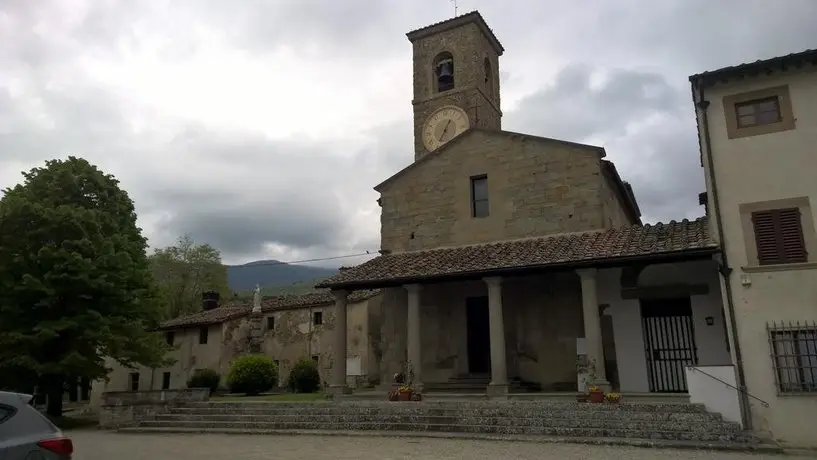
[[[414,48],[414,159],[469,128],[501,129],[499,56],[477,11],[407,34]]]

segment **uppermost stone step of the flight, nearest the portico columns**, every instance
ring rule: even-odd
[[[604,412],[660,412],[660,413],[707,413],[700,404],[690,403],[621,403],[621,404],[590,404],[575,401],[421,401],[421,402],[389,402],[389,401],[316,401],[316,402],[191,402],[178,407],[191,409],[222,409],[225,411],[265,409],[265,410],[315,410],[317,408],[342,407],[358,410],[407,410],[416,407],[422,410],[449,409],[449,410],[497,410],[513,411],[513,413],[547,413],[554,410],[574,410],[591,413]],[[507,412],[506,412],[507,413]]]

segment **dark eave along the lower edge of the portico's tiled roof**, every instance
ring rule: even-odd
[[[681,262],[688,260],[697,260],[709,258],[714,254],[718,254],[720,248],[718,246],[706,246],[695,249],[684,249],[680,251],[665,251],[651,254],[640,254],[637,256],[622,256],[622,257],[606,257],[586,259],[581,261],[558,262],[553,264],[537,264],[525,265],[521,267],[504,267],[489,270],[477,270],[469,272],[458,272],[452,274],[420,276],[420,277],[403,277],[392,278],[388,280],[373,280],[373,281],[353,281],[353,282],[339,282],[329,283],[323,285],[324,288],[329,289],[382,289],[388,287],[397,287],[405,284],[415,283],[440,283],[450,282],[463,279],[471,279],[483,276],[501,276],[501,275],[519,275],[530,272],[556,271],[565,269],[579,269],[579,268],[612,268],[623,265],[631,265],[641,262],[649,262],[654,260],[662,260],[668,262]]]

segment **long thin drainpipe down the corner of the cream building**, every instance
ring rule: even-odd
[[[715,227],[717,228],[718,232],[718,242],[721,246],[721,265],[718,271],[720,272],[721,276],[723,276],[725,281],[724,291],[726,294],[726,316],[729,318],[729,325],[732,329],[732,346],[735,349],[735,383],[737,383],[737,387],[740,390],[738,392],[740,418],[743,422],[743,426],[746,427],[747,430],[751,430],[752,414],[749,406],[749,396],[746,392],[746,374],[743,371],[743,353],[741,352],[740,339],[738,337],[738,323],[737,319],[735,318],[735,302],[730,277],[732,274],[732,269],[729,267],[729,259],[726,255],[726,243],[723,237],[723,219],[721,218],[721,206],[718,198],[718,185],[715,181],[715,162],[712,156],[712,139],[709,134],[709,116],[707,115],[709,101],[704,99],[704,88],[700,80],[697,82],[698,96],[696,97],[695,83],[696,82],[692,83],[692,98],[695,101],[695,106],[700,109],[701,124],[703,124],[703,142],[704,147],[706,148],[706,162],[709,165],[707,170],[709,171],[709,183],[712,187],[712,207],[714,208],[715,215],[717,216],[717,219],[715,219],[717,222]]]

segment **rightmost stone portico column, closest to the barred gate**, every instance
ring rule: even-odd
[[[584,344],[587,359],[595,366],[593,383],[605,391],[610,390],[610,383],[604,371],[604,349],[601,343],[601,320],[599,319],[599,299],[596,286],[595,268],[576,270],[582,285],[582,316],[584,316]]]

